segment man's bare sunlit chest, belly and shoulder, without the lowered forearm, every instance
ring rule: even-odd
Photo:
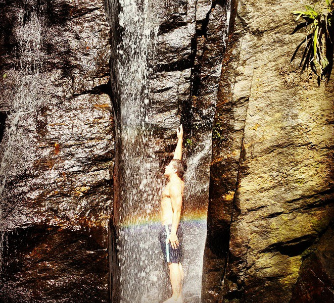
[[[169,194],[170,186],[179,188],[181,196],[183,197],[184,182],[182,180],[173,182],[169,181],[161,193],[160,217],[162,225],[172,224],[173,220],[173,208]]]

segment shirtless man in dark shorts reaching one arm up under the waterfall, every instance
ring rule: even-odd
[[[181,303],[183,269],[181,265],[182,226],[179,224],[183,197],[183,174],[186,169],[182,159],[182,124],[177,129],[177,145],[174,158],[166,166],[164,175],[168,182],[161,197],[161,224],[159,233],[161,249],[168,264],[173,294],[164,303]]]

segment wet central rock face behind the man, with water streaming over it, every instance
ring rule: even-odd
[[[113,299],[144,302],[145,298],[163,301],[170,296],[166,266],[160,262],[160,248],[156,249],[156,230],[150,228],[152,221],[160,223],[159,202],[165,183],[162,172],[173,157],[175,131],[182,123],[188,166],[182,219],[190,222],[197,218],[200,222],[184,231],[187,279],[183,294],[197,302],[206,238],[211,129],[229,2],[106,1],[106,11],[111,25],[111,85],[117,129],[114,224],[120,235],[118,254],[115,251],[112,260]],[[142,58],[142,53],[147,57]],[[132,225],[138,218],[151,224],[149,236],[130,242],[136,233]],[[128,222],[131,227],[124,231]],[[136,255],[128,259],[127,251],[132,251],[129,247],[135,241],[144,248],[137,247]],[[141,266],[133,264],[134,258]],[[143,278],[133,285],[133,275]],[[153,287],[150,279],[157,281]]]

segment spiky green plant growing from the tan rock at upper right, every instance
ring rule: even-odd
[[[333,42],[334,42],[334,1],[325,0],[317,3],[317,8],[306,5],[306,11],[293,11],[296,21],[304,19],[299,23],[291,34],[305,28],[306,37],[297,46],[291,61],[292,62],[298,49],[305,43],[305,49],[300,62],[302,72],[309,66],[320,79],[326,78],[328,83],[333,66]]]

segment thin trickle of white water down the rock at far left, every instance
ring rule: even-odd
[[[2,161],[0,163],[0,274],[4,264],[2,252],[6,245],[6,231],[15,228],[11,226],[9,217],[20,218],[14,201],[9,207],[10,191],[7,183],[12,176],[23,173],[33,162],[31,149],[35,146],[33,132],[29,125],[33,124],[34,113],[42,104],[43,97],[39,94],[39,87],[43,79],[39,74],[41,65],[41,31],[43,18],[40,16],[41,6],[38,0],[24,0],[17,10],[17,25],[15,27],[14,67],[7,72],[11,82],[15,82],[15,90],[4,92],[7,98],[8,118],[4,137],[0,145]]]

